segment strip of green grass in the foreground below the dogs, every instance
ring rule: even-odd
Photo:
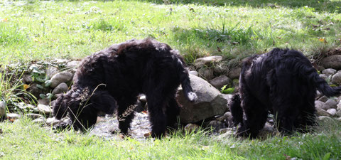
[[[315,132],[266,140],[210,137],[177,132],[161,140],[101,139],[90,134],[33,124],[30,119],[0,124],[1,159],[340,159],[341,123]]]

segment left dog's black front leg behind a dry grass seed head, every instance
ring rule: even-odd
[[[119,129],[122,134],[128,134],[131,120],[134,118],[134,105],[137,97],[121,97],[117,100],[119,105],[117,119],[119,120]]]

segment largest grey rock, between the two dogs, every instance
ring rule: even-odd
[[[227,103],[229,95],[223,95],[215,87],[210,85],[206,80],[195,75],[190,75],[190,82],[194,92],[197,94],[195,102],[189,102],[183,95],[183,90],[180,88],[176,99],[180,107],[180,122],[195,123],[215,115],[224,114],[227,112]]]

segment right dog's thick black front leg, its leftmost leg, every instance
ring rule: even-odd
[[[238,134],[239,136],[254,138],[259,133],[259,130],[264,127],[268,112],[256,97],[246,92],[242,96],[242,107],[246,119],[238,128]]]

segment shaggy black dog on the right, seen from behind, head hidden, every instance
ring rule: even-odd
[[[237,133],[256,137],[269,112],[280,132],[315,124],[316,90],[330,97],[340,94],[341,87],[330,87],[297,50],[275,48],[247,58],[239,76],[239,93],[229,104],[234,124],[241,124]]]

